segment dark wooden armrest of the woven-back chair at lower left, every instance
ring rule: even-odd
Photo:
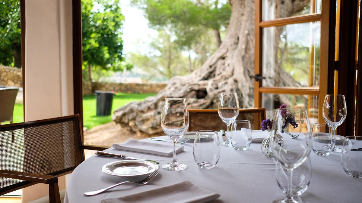
[[[0,177],[14,178],[23,181],[38,182],[45,184],[54,184],[58,182],[58,177],[56,176],[17,172],[11,170],[0,170]]]

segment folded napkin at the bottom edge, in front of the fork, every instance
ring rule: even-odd
[[[219,196],[219,194],[195,186],[190,181],[182,181],[119,198],[103,199],[101,203],[203,203],[217,199]]]

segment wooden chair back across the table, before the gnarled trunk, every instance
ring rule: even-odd
[[[226,131],[226,124],[220,119],[216,109],[189,109],[189,118],[188,131]],[[240,109],[236,119],[248,120],[252,130],[261,130],[261,121],[265,119],[265,108]]]

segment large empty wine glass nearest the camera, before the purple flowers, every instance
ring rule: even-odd
[[[298,137],[292,138],[284,131]],[[275,158],[285,166],[288,175],[286,198],[274,202],[298,202],[292,196],[292,174],[295,168],[307,160],[312,148],[311,126],[307,111],[305,109],[277,109],[270,135],[270,149]]]

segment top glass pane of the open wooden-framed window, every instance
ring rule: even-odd
[[[316,0],[311,8],[311,1],[263,0],[263,21],[310,13],[320,13],[321,0]]]

